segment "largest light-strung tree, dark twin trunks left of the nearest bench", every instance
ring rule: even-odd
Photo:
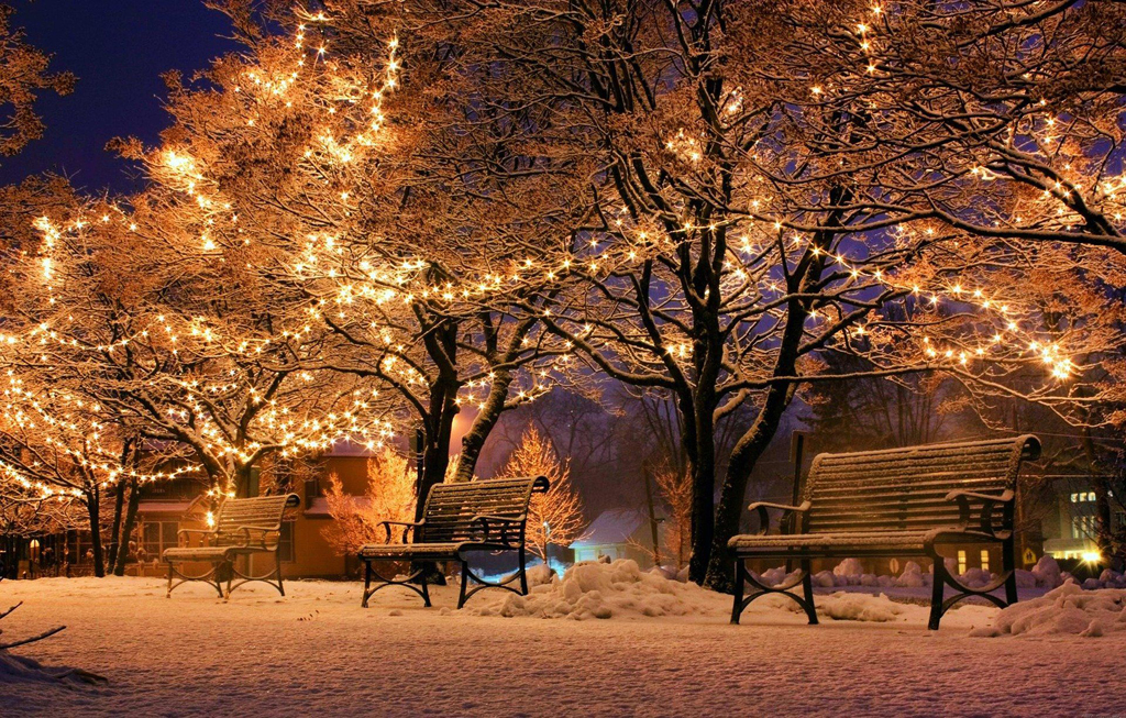
[[[580,227],[589,244],[553,268],[575,289],[540,321],[599,370],[676,402],[692,476],[694,580],[726,584],[724,549],[747,483],[803,385],[944,371],[982,395],[1017,393],[1061,411],[1087,403],[1076,402],[1080,385],[1106,398],[1084,380],[1082,362],[1108,347],[1098,303],[1052,322],[1019,282],[1031,267],[1057,261],[1056,278],[1100,271],[1114,260],[1091,245],[1111,242],[1090,232],[1061,236],[1076,222],[1066,207],[1052,219],[1038,207],[1030,219],[1054,234],[988,231],[993,213],[1025,217],[1027,204],[1019,192],[988,189],[990,201],[981,201],[997,171],[982,154],[997,152],[995,137],[1021,142],[1026,110],[1048,84],[1057,105],[1061,95],[1079,101],[1087,88],[1101,92],[1096,106],[1114,108],[1108,126],[1117,122],[1117,86],[1083,79],[1120,63],[1114,32],[1099,29],[1120,10],[1001,1],[957,10],[464,5],[458,15],[449,3],[417,3],[419,32],[455,26],[463,62],[493,70],[484,97],[551,107],[555,153],[598,158],[591,221]],[[1092,38],[1098,61],[1089,72],[1080,65]],[[1024,87],[1021,70],[1045,75]],[[1029,101],[1010,104],[1013,92]],[[1117,156],[1117,132],[1108,131],[1099,156]],[[1072,152],[1076,170],[1089,164],[1082,154]],[[965,162],[988,172],[967,167],[946,179],[947,168]],[[1097,189],[1083,186],[1108,197],[1119,181],[1107,189],[1092,179]],[[959,207],[971,201],[990,222],[963,218]],[[1099,216],[1090,221],[1099,232],[1117,233],[1112,214]],[[1011,241],[1026,239],[1044,241]],[[865,364],[834,376],[819,359],[825,352]],[[1034,389],[1006,384],[1035,364],[1047,376]],[[713,505],[716,428],[741,407],[751,418]]]

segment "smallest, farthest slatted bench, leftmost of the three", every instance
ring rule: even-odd
[[[215,586],[221,596],[230,596],[231,591],[251,581],[262,581],[285,595],[282,585],[282,557],[278,555],[278,542],[282,536],[282,518],[288,506],[301,503],[297,494],[277,496],[258,496],[254,499],[227,499],[220,506],[215,518],[214,529],[180,529],[180,546],[164,549],[164,562],[168,563],[168,595],[172,589],[188,581],[206,581]],[[191,535],[203,537],[202,546],[185,546]],[[274,569],[260,576],[244,574],[238,569],[235,562],[240,556],[252,554],[272,554]],[[187,575],[179,564],[211,564],[211,571]],[[172,583],[179,576],[180,581]],[[232,585],[232,581],[239,582]],[[222,582],[226,581],[226,592]]]

